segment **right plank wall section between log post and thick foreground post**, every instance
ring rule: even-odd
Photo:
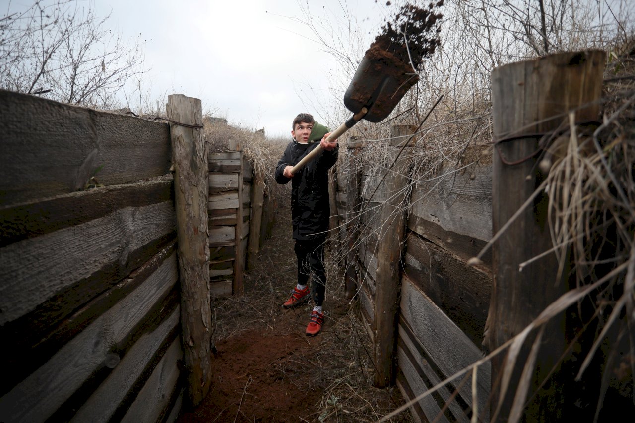
[[[435,175],[413,186],[398,337],[398,386],[410,398],[482,356],[491,254],[478,267],[466,262],[491,238],[491,164],[458,167],[446,161]],[[489,362],[478,370],[477,393],[479,420],[488,421]],[[441,412],[452,394],[453,400]],[[468,375],[427,396],[412,410],[419,421],[439,415],[441,421],[469,422],[473,401]]]

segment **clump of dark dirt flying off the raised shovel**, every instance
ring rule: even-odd
[[[428,8],[404,4],[392,22],[382,26],[382,33],[375,37],[366,54],[420,71],[424,58],[441,45],[439,23],[443,15],[436,13],[436,8],[443,6],[443,1],[430,3]]]

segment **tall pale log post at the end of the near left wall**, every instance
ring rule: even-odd
[[[187,125],[203,123],[201,100],[198,98],[170,95],[166,108],[172,121]],[[170,123],[170,138],[187,394],[189,402],[198,405],[207,395],[211,382],[207,154],[198,129]]]

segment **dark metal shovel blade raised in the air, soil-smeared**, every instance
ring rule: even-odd
[[[411,68],[396,62],[394,57],[366,51],[344,94],[344,105],[353,113],[366,107],[364,119],[381,122],[418,80]]]

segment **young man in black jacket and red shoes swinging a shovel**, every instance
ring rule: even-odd
[[[298,258],[298,281],[284,308],[295,307],[309,300],[311,288],[309,276],[316,278],[314,304],[307,335],[317,335],[324,325],[322,303],[326,290],[324,271],[324,240],[331,215],[328,199],[328,170],[337,161],[337,140],[326,142],[328,129],[317,124],[308,113],[300,113],[293,119],[293,140],[276,166],[276,182],[291,181],[291,218],[295,255]],[[319,142],[318,142],[319,141]],[[324,149],[316,158],[305,164],[295,175],[293,166],[309,151],[321,145]]]

